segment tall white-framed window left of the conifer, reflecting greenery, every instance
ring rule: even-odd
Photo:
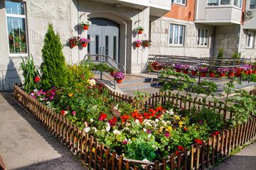
[[[23,2],[5,1],[10,54],[28,52],[26,11]]]

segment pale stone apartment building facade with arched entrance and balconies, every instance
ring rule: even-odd
[[[48,24],[63,43],[66,62],[87,54],[109,55],[127,73],[146,71],[149,55],[225,57],[241,52],[256,57],[255,0],[3,0],[0,1],[0,91],[22,81],[21,57],[41,64]],[[79,23],[92,26],[83,30]],[[142,34],[135,30],[143,27]],[[89,38],[87,47],[70,47],[68,38]],[[134,40],[152,40],[135,47]]]

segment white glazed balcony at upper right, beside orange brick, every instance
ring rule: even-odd
[[[195,23],[211,26],[240,24],[242,0],[198,0]]]

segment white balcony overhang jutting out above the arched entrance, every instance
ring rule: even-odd
[[[113,4],[114,6],[123,6],[128,8],[138,8],[143,10],[150,8],[150,16],[164,16],[171,11],[171,0],[95,0],[102,3]]]

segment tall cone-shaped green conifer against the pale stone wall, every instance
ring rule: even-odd
[[[55,86],[60,88],[66,83],[65,57],[60,43],[60,36],[55,35],[53,25],[49,24],[42,49],[41,82],[44,90]]]

